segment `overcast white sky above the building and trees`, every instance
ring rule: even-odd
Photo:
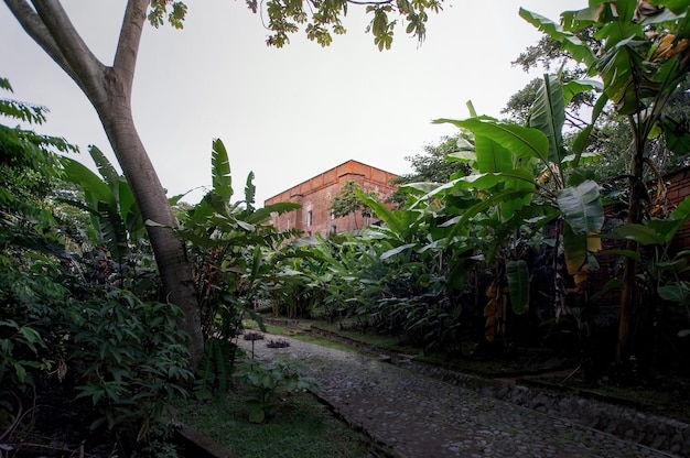
[[[123,0],[65,0],[95,54],[109,65]],[[234,200],[254,171],[257,204],[354,159],[410,172],[410,156],[454,132],[436,118],[499,117],[510,95],[538,74],[511,67],[540,34],[520,7],[558,21],[585,0],[450,1],[432,15],[424,44],[397,30],[379,52],[364,30],[363,8],[351,6],[348,33],[322,48],[303,37],[282,50],[265,44],[261,18],[242,0],[187,1],[182,31],[148,26],[140,47],[133,111],[139,133],[169,195],[211,183],[211,144],[230,155]],[[14,98],[47,107],[42,133],[77,144],[90,164],[96,144],[115,162],[95,110],[76,85],[0,4],[0,76]],[[0,95],[4,97],[7,94]],[[202,192],[186,200],[195,203]]]

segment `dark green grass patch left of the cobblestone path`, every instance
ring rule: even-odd
[[[224,396],[176,405],[177,419],[239,457],[364,458],[367,438],[336,418],[310,393],[288,397],[276,417],[248,421],[247,395],[238,389]]]

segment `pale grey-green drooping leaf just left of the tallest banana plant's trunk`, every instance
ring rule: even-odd
[[[561,189],[558,206],[574,233],[599,232],[604,223],[604,207],[595,182],[586,181]]]

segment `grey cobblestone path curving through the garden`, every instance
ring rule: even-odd
[[[290,347],[280,349],[255,341],[255,357],[285,353],[305,363],[323,384],[320,396],[398,457],[675,456],[483,396],[375,356],[285,340]],[[251,352],[251,341],[239,345]]]

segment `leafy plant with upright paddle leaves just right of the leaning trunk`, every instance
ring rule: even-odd
[[[213,189],[180,215],[179,233],[187,242],[204,336],[230,340],[239,335],[251,306],[270,297],[265,280],[272,269],[269,253],[293,235],[279,233],[266,222],[271,212],[290,211],[299,205],[255,209],[254,174],[247,178],[245,199],[231,203],[230,165],[220,140],[213,143],[212,177]]]

